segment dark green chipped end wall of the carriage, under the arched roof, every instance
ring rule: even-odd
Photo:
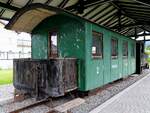
[[[48,35],[52,30],[58,32],[59,57],[73,57],[78,62],[78,87],[85,87],[85,37],[82,22],[63,15],[56,15],[41,22],[32,32],[32,58],[48,58]]]

